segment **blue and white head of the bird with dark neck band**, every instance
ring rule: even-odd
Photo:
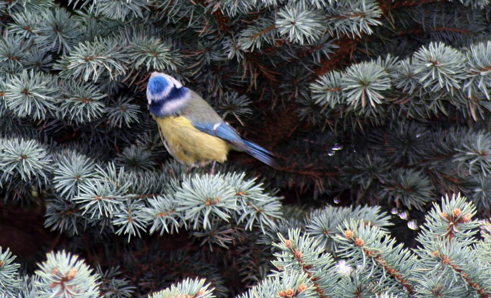
[[[159,117],[173,114],[188,101],[189,93],[189,89],[172,76],[153,72],[147,85],[150,112]]]

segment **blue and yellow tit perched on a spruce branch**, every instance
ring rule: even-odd
[[[194,167],[223,163],[235,149],[277,168],[272,152],[241,138],[208,102],[172,76],[153,72],[147,99],[165,149],[180,163]]]

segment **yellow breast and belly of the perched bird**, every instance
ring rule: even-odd
[[[180,163],[204,166],[214,160],[222,163],[227,159],[227,143],[196,129],[186,118],[179,116],[154,119],[159,126],[165,148]]]

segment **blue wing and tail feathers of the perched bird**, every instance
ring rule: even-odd
[[[246,151],[253,157],[257,158],[259,161],[272,166],[273,168],[278,168],[278,164],[274,160],[274,154],[259,145],[256,145],[250,141],[244,140],[239,136],[237,131],[235,131],[232,126],[226,124],[225,122],[220,123],[206,123],[206,124],[197,124],[192,123],[194,127],[199,129],[200,131],[206,132],[212,136],[216,136],[222,140],[225,140],[232,144],[233,146]]]

